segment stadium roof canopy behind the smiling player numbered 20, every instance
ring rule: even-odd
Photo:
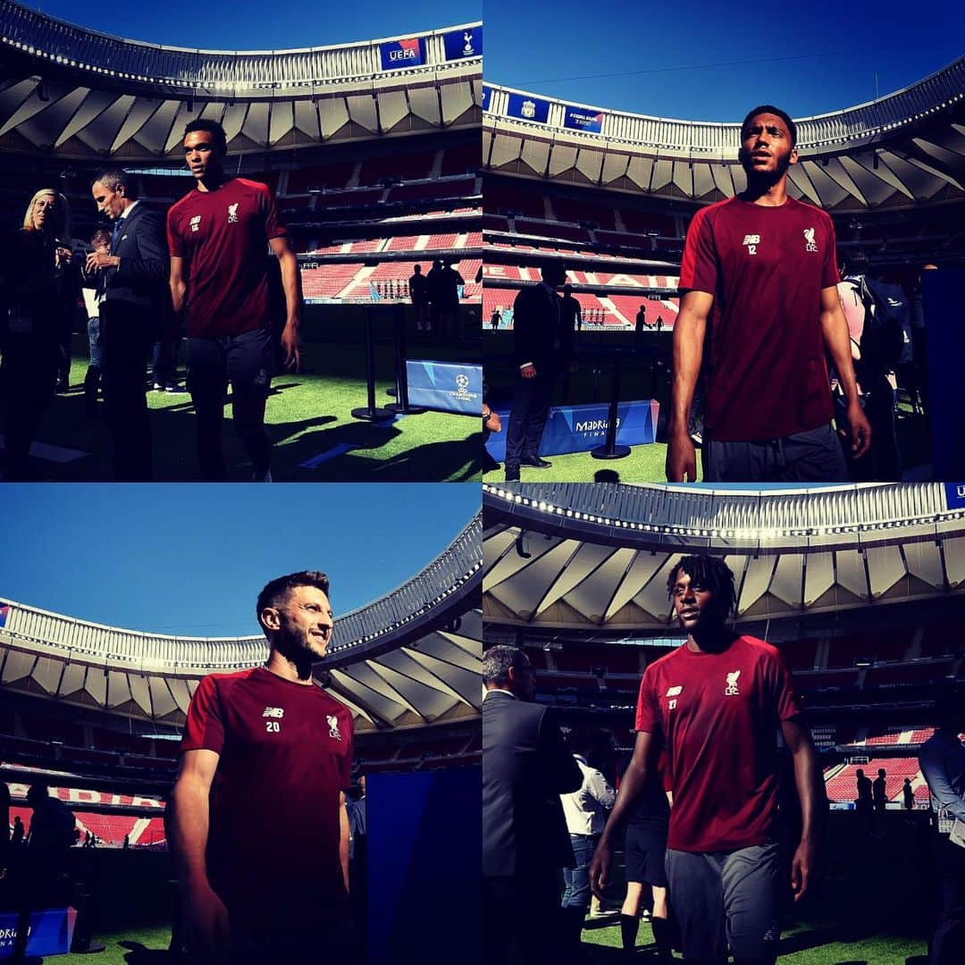
[[[474,717],[482,698],[477,516],[420,573],[339,617],[319,682],[358,731]],[[201,677],[256,667],[264,637],[175,637],[0,599],[0,688],[182,724]]]

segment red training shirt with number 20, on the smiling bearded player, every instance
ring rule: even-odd
[[[207,877],[232,915],[316,918],[345,896],[339,792],[352,718],[315,684],[263,667],[204,677],[180,751],[220,755],[209,797]]]

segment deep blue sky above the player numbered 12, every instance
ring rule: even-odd
[[[921,11],[921,15],[917,15]],[[965,53],[965,5],[486,0],[487,80],[658,117],[806,117],[883,96]],[[618,76],[600,76],[602,74]]]

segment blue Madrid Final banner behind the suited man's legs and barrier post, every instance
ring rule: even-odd
[[[587,453],[606,442],[610,425],[609,405],[562,405],[549,410],[549,418],[539,443],[539,455]],[[508,409],[497,409],[503,431],[494,432],[486,451],[497,462],[506,460],[506,431],[510,426]],[[646,446],[656,442],[660,403],[655,399],[620,402],[617,408],[617,443],[620,446]]]

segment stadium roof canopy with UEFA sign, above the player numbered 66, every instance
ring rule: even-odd
[[[0,149],[180,160],[184,125],[199,117],[224,125],[232,153],[472,127],[482,111],[482,30],[193,50],[111,37],[0,0]]]

